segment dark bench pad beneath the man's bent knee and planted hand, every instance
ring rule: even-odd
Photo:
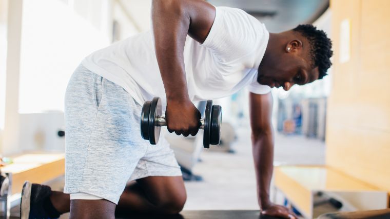
[[[128,217],[116,217],[117,219],[276,219],[260,215],[260,211],[246,210],[212,210],[212,211],[182,211],[177,215],[131,215]]]

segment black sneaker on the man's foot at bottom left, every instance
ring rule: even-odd
[[[59,215],[49,215],[44,206],[47,198],[50,197],[49,186],[32,184],[26,181],[22,189],[21,198],[21,219],[54,219]],[[50,200],[49,200],[50,201]]]

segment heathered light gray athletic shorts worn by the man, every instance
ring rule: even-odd
[[[143,140],[142,106],[122,87],[80,65],[65,94],[65,188],[118,204],[127,181],[180,176],[163,136]]]

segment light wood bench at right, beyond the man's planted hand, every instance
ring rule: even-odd
[[[388,193],[326,166],[275,167],[275,187],[306,218],[315,218],[316,194],[331,194],[356,209],[374,210],[388,206]],[[321,214],[321,213],[319,213]]]

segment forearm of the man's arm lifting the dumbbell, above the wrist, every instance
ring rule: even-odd
[[[167,99],[189,99],[183,50],[190,19],[180,1],[152,2],[154,47]]]

